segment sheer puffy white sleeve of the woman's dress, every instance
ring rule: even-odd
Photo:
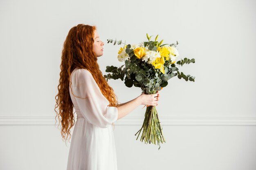
[[[101,93],[90,71],[82,68],[75,72],[72,76],[72,90],[81,114],[91,124],[107,128],[117,120],[117,107],[108,106],[108,99]]]

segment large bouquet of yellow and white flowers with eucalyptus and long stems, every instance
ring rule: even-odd
[[[114,45],[124,44],[120,48],[117,58],[119,62],[125,63],[120,67],[107,66],[106,72],[108,74],[104,75],[107,81],[108,79],[121,79],[127,87],[139,87],[145,94],[157,93],[167,86],[169,79],[176,75],[179,79],[183,78],[186,81],[195,82],[195,77],[179,72],[176,67],[177,65],[195,63],[194,58],[190,60],[186,57],[176,62],[179,57],[176,49],[178,42],[176,44],[162,44],[164,40],[158,42],[158,35],[154,41],[150,40],[152,36],[146,35],[148,41],[134,45],[122,43],[121,40],[107,40],[108,43],[114,43]],[[142,129],[141,142],[143,140],[145,144],[156,144],[157,142],[159,148],[160,142],[166,142],[155,106],[146,108],[143,125],[138,131],[139,134]]]

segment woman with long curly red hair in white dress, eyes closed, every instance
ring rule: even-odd
[[[70,29],[64,42],[61,73],[56,95],[56,111],[65,141],[74,126],[67,170],[117,170],[112,127],[139,105],[157,106],[159,93],[142,93],[129,102],[118,104],[113,89],[103,77],[97,57],[104,43],[95,26],[78,24]],[[70,139],[70,138],[69,138]]]

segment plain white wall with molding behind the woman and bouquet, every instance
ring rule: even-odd
[[[255,7],[254,0],[1,0],[0,170],[66,168],[69,145],[54,126],[54,97],[63,42],[79,23],[96,25],[105,42],[103,73],[122,65],[108,38],[135,44],[146,33],[177,40],[181,57],[196,61],[180,68],[195,82],[174,77],[160,91],[160,150],[134,136],[143,106],[115,123],[119,170],[255,170]],[[121,80],[109,84],[120,102],[141,93]]]

